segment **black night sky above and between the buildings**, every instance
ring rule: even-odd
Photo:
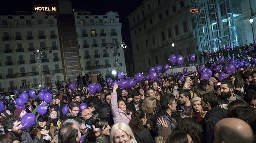
[[[134,11],[143,0],[72,0],[75,10],[91,11],[93,14],[101,14],[108,11],[118,12],[122,23],[123,41],[130,47],[125,49],[126,64],[131,64],[132,50],[129,32],[129,23],[126,18]],[[12,15],[16,11],[33,11],[34,6],[52,6],[55,0],[3,0],[0,4],[0,15]],[[133,62],[132,62],[133,63]]]

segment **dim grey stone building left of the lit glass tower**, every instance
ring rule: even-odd
[[[167,63],[170,54],[197,53],[189,10],[189,0],[144,0],[127,16],[135,72],[148,72],[151,66]]]

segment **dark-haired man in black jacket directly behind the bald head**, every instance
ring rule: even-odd
[[[218,106],[217,96],[213,93],[206,93],[201,98],[201,105],[204,111],[207,111],[204,119],[205,124],[205,140],[207,143],[212,143],[214,139],[214,126],[215,124],[227,117],[227,110]]]

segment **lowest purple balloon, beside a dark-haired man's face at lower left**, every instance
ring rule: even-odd
[[[25,130],[36,123],[36,116],[33,113],[27,113],[21,118],[22,129]]]

